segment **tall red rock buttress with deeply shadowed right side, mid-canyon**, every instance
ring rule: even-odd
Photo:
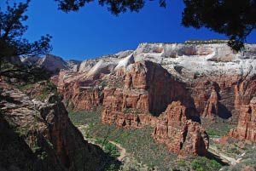
[[[103,123],[117,123],[124,127],[154,123],[154,117],[159,117],[172,100],[181,100],[195,111],[183,83],[153,62],[141,61],[132,65],[125,73],[124,84],[123,88],[103,90]],[[191,117],[199,117],[196,112],[193,114]]]

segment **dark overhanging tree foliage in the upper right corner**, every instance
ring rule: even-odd
[[[255,0],[183,0],[183,26],[207,27],[230,37],[231,48],[240,50],[256,28]]]

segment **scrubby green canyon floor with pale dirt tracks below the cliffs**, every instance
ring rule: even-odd
[[[123,129],[103,124],[100,122],[100,111],[101,107],[94,111],[70,111],[69,117],[90,143],[101,146],[97,141],[106,139],[116,145],[118,159],[122,162],[119,170],[229,170],[241,163],[247,151],[253,149],[253,144],[239,144],[234,139],[229,141],[236,141],[238,144],[225,142],[224,134],[234,125],[218,121],[219,123],[208,124],[207,127],[211,134],[208,158],[178,157],[166,151],[164,145],[154,144],[151,128]],[[204,122],[209,121],[202,120],[202,124]]]

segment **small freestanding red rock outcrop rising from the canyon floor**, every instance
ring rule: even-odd
[[[189,119],[191,114],[193,116],[180,101],[173,101],[159,117],[154,128],[154,140],[177,154],[206,155],[208,135],[200,123]]]

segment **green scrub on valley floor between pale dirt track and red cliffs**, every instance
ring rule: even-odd
[[[165,171],[170,168],[177,170],[191,170],[191,163],[198,163],[198,169],[203,170],[218,170],[220,164],[216,161],[207,159],[206,157],[187,157],[185,160],[177,161],[177,155],[166,150],[165,145],[157,145],[154,139],[151,137],[153,128],[144,127],[139,129],[124,129],[118,128],[115,125],[101,123],[101,108],[95,111],[69,111],[69,117],[76,125],[87,125],[82,129],[82,133],[85,137],[96,139],[96,144],[102,146],[103,140],[108,134],[106,140],[107,144],[104,145],[103,150],[108,151],[112,156],[115,156],[115,150],[111,143],[108,145],[108,141],[112,140],[123,146],[132,157],[135,157],[137,162],[142,162],[147,166],[148,170]],[[200,162],[198,162],[200,161]],[[135,166],[140,165],[138,163],[131,163],[130,170],[137,170]],[[201,168],[200,168],[201,167]],[[110,168],[108,170],[111,170]]]

